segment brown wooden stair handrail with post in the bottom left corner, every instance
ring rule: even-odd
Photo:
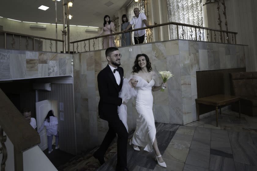
[[[2,89],[0,89],[0,102],[0,126],[13,144],[14,168],[15,170],[23,170],[22,153],[23,151],[39,144],[40,136],[9,100]],[[2,133],[0,136],[2,144],[6,141],[6,136],[3,136]],[[6,161],[7,151],[4,146],[1,147],[0,151],[4,155],[2,160]],[[1,166],[5,166],[5,163],[2,162]],[[4,167],[2,170],[4,170]]]

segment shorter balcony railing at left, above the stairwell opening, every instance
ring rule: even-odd
[[[0,31],[0,48],[17,50],[34,50],[44,52],[60,52],[63,40],[25,35],[9,31]],[[59,44],[58,44],[59,43]]]

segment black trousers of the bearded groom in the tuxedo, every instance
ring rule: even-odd
[[[109,120],[109,119],[108,119]],[[101,146],[96,151],[100,156],[104,156],[113,139],[118,135],[117,141],[117,166],[124,169],[127,166],[127,142],[128,132],[119,116],[108,121],[109,130],[104,137]]]

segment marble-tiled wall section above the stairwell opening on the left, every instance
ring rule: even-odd
[[[0,49],[0,80],[73,75],[71,54]]]

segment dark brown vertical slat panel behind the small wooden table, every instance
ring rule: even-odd
[[[230,95],[229,73],[245,71],[245,68],[197,71],[197,98],[212,96],[216,94]],[[199,105],[200,115],[213,111],[214,109],[215,108],[213,106]]]

